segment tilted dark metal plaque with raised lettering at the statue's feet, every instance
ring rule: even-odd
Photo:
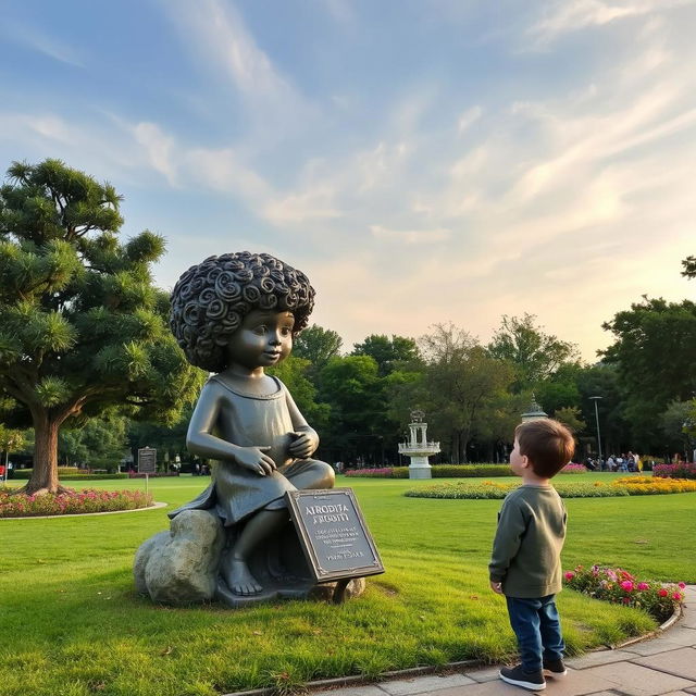
[[[384,573],[351,488],[289,490],[285,495],[316,582]]]

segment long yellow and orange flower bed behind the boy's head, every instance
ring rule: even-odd
[[[434,486],[411,488],[403,495],[410,498],[500,499],[519,486],[519,482],[498,483],[476,481],[442,483]],[[611,483],[557,482],[554,487],[561,498],[613,498],[620,496],[666,495],[696,492],[695,481],[683,478],[652,478],[649,476],[624,476]]]

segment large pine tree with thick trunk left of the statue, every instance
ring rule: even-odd
[[[171,335],[150,266],[162,237],[119,238],[122,198],[58,160],[15,162],[0,187],[0,396],[3,420],[33,425],[26,493],[60,492],[58,433],[117,407],[174,422],[201,383]]]

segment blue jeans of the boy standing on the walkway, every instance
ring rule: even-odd
[[[506,597],[510,625],[518,637],[518,647],[525,672],[538,672],[543,660],[563,658],[566,644],[556,609],[556,595],[540,599]]]

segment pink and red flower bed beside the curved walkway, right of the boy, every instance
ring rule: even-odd
[[[644,609],[660,623],[667,621],[684,601],[684,583],[664,585],[652,581],[638,582],[621,568],[577,566],[564,573],[566,585],[585,595],[613,604]]]

